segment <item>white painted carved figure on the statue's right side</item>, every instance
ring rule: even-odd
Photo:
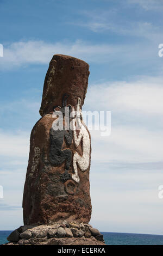
[[[79,126],[79,135],[77,135],[77,118],[74,118],[72,120],[73,122],[73,140],[76,148],[79,146],[81,141],[83,140],[83,155],[80,156],[77,152],[73,156],[73,169],[74,174],[72,175],[72,179],[76,182],[80,181],[79,175],[78,175],[78,167],[77,164],[82,170],[82,172],[85,172],[87,168],[89,168],[90,164],[90,136],[88,131],[86,130],[85,126],[83,125],[83,121],[80,120],[82,118],[82,109],[80,108],[81,99],[78,97],[78,103],[77,103],[77,118],[78,118],[78,126]],[[73,108],[74,112],[74,108]]]

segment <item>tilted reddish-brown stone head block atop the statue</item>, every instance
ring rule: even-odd
[[[70,94],[68,104],[76,106],[76,99],[80,97],[83,105],[89,74],[89,65],[83,60],[54,55],[45,77],[40,115],[43,117],[53,111],[53,106],[60,106],[65,93]]]

